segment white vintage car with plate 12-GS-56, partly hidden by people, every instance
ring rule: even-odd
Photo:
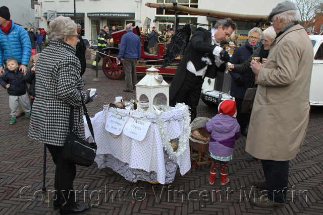
[[[313,70],[309,91],[310,105],[323,105],[323,35],[310,35],[314,49]],[[201,99],[210,106],[224,100],[234,100],[230,96],[231,76],[218,73],[216,79],[205,78],[202,85]]]

